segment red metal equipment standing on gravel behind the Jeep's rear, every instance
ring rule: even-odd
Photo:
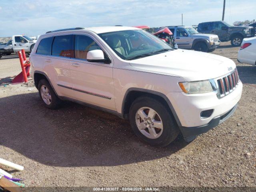
[[[18,52],[19,58],[20,58],[20,66],[22,69],[22,72],[18,74],[13,80],[12,83],[27,83],[28,82],[28,76],[30,76],[29,70],[30,70],[30,63],[29,60],[26,58],[26,53],[24,49]]]

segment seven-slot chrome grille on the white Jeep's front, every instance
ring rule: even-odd
[[[235,69],[230,74],[216,80],[218,84],[218,98],[222,98],[228,95],[230,92],[236,89],[239,82],[238,71]]]

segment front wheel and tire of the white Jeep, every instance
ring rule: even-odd
[[[136,136],[153,146],[167,146],[180,132],[170,110],[148,96],[134,100],[130,107],[129,120]]]

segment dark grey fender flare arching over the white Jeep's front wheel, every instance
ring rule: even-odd
[[[124,106],[125,106],[126,98],[129,94],[129,92],[131,92],[131,91],[139,91],[139,92],[154,94],[154,95],[157,95],[157,96],[160,96],[161,98],[163,98],[166,101],[166,103],[168,104],[168,107],[170,108],[170,110],[171,110],[171,112],[174,116],[174,119],[176,120],[176,122],[178,124],[178,127],[182,126],[181,123],[180,123],[180,120],[178,118],[178,115],[176,114],[176,111],[174,110],[174,107],[172,106],[172,103],[166,97],[165,94],[163,94],[161,92],[153,91],[153,90],[143,89],[143,88],[129,88],[128,90],[126,90],[126,93],[124,94],[124,98],[123,98],[123,101],[122,101],[122,112],[121,112],[122,116],[124,116]]]

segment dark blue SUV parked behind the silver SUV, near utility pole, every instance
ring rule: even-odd
[[[255,36],[255,29],[251,26],[232,26],[224,21],[204,22],[198,24],[200,33],[216,34],[220,41],[229,41],[233,46],[240,46],[243,38]]]

